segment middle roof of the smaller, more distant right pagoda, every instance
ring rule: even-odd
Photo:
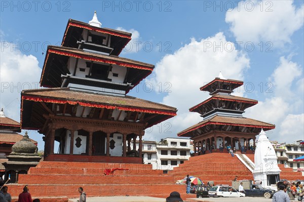
[[[225,104],[222,101],[226,101],[228,103]],[[242,105],[240,103],[242,103]],[[233,95],[216,94],[211,96],[207,100],[201,102],[200,104],[197,104],[196,106],[189,108],[189,111],[198,112],[202,115],[207,112],[210,112],[214,108],[241,110],[244,112],[244,109],[254,106],[257,103],[258,103],[257,100],[253,100],[249,98],[243,98]]]

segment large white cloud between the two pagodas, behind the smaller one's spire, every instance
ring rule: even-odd
[[[223,33],[184,45],[173,54],[164,56],[156,64],[155,77],[149,82],[170,84],[171,93],[163,98],[163,103],[178,109],[177,116],[166,120],[170,123],[171,133],[159,134],[159,131],[145,135],[145,139],[157,140],[165,136],[177,137],[176,134],[203,120],[198,113],[189,112],[189,108],[209,97],[209,93],[200,91],[200,87],[218,76],[219,71],[226,78],[243,79],[243,72],[249,68],[248,57],[237,50],[225,51],[225,48],[207,48],[214,45],[223,46],[229,42]],[[157,88],[159,90],[159,88]]]

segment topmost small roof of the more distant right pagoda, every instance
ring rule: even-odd
[[[234,89],[243,85],[241,80],[223,79],[216,77],[208,84],[200,88],[201,91],[208,91],[210,95],[216,93],[232,93]]]

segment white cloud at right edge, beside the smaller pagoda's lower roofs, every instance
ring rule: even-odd
[[[281,57],[270,76],[273,93],[269,98],[246,110],[247,117],[276,125],[269,135],[271,140],[289,143],[290,135],[304,139],[302,67],[290,60]]]

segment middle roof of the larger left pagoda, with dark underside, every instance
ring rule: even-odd
[[[115,84],[115,83],[107,83],[102,82],[100,79],[99,81],[95,81],[94,79],[87,79],[86,82],[95,82],[100,83],[100,87],[105,88],[106,86],[119,86],[119,88],[125,88],[122,90],[129,91],[134,86],[136,86],[142,79],[148,76],[154,69],[154,65],[147,64],[144,62],[139,62],[127,58],[122,58],[118,56],[108,56],[104,54],[86,52],[81,49],[75,48],[67,48],[67,47],[56,47],[56,46],[49,46],[47,50],[47,55],[45,58],[40,85],[42,87],[49,87],[49,88],[58,88],[62,85],[62,77],[61,75],[71,74],[68,68],[66,67],[68,59],[72,58],[80,58],[87,60],[89,62],[100,62],[105,64],[113,64],[124,66],[128,68],[128,74],[125,79],[124,84],[131,84],[125,85],[126,87],[122,87],[122,84]],[[107,66],[110,68],[110,66]],[[115,89],[115,87],[113,87]],[[121,89],[119,89],[121,90]]]

